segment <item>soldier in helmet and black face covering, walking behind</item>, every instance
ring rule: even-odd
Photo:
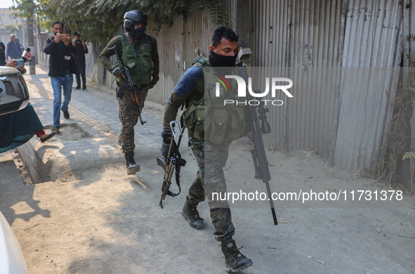
[[[149,89],[159,80],[159,53],[157,41],[154,37],[145,33],[147,14],[143,11],[129,11],[124,15],[124,27],[127,33],[120,34],[110,40],[100,53],[99,60],[104,67],[112,72],[117,79],[117,86],[124,83],[119,64],[114,64],[110,56],[114,50],[108,50],[117,46],[117,51],[126,67],[129,67],[131,79],[138,91],[138,101],[144,107],[145,98]],[[134,126],[138,122],[138,109],[132,99],[132,92],[127,90],[122,98],[118,98],[119,119],[121,121],[121,134],[119,145],[125,153],[127,174],[136,174],[140,166],[134,160]]]

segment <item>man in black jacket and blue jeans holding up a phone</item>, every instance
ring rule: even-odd
[[[70,119],[67,107],[71,100],[72,83],[74,82],[73,73],[75,72],[74,57],[77,53],[71,43],[69,34],[62,34],[63,23],[56,21],[52,25],[54,37],[46,39],[44,53],[49,57],[49,76],[53,88],[53,126],[52,131],[59,131],[60,110],[65,119]],[[63,87],[63,103],[61,100]],[[62,105],[61,105],[62,103]]]

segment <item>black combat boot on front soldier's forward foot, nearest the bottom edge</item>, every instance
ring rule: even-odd
[[[235,273],[252,266],[251,259],[246,258],[246,256],[239,252],[234,240],[222,242],[220,248],[222,249],[223,255],[225,255],[226,271]]]

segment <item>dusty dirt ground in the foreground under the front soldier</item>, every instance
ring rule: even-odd
[[[120,162],[23,185],[13,181],[19,174],[11,153],[1,155],[0,209],[29,273],[225,273],[207,204],[199,206],[206,222],[202,230],[190,228],[180,214],[196,167],[189,149],[183,146],[182,154],[187,159],[183,192],[167,197],[164,209],[159,207],[163,174],[154,157],[141,157],[134,176],[126,176]],[[275,192],[390,190],[329,167],[312,151],[267,154]],[[247,145],[232,146],[225,167],[229,191],[265,191],[253,179],[250,158]],[[268,201],[232,204],[235,240],[253,260],[243,273],[414,273],[414,204],[408,195],[400,203],[379,205],[275,202],[278,226]]]

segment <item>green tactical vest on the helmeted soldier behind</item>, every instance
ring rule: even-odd
[[[133,84],[135,86],[149,84],[153,68],[150,36],[145,35],[145,38],[140,41],[138,49],[134,47],[134,44],[129,44],[126,34],[119,34],[119,36],[121,37],[122,44],[122,61],[130,70]],[[117,77],[117,85],[121,86],[123,83],[124,79]]]

